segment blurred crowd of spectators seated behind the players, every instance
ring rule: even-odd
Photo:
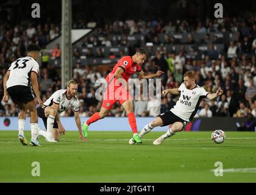
[[[169,36],[174,33],[205,33],[206,36],[202,43],[209,45],[204,53],[203,59],[193,59],[186,57],[187,51],[168,51],[165,46],[168,44],[179,44],[179,40]],[[208,33],[211,32],[238,32],[235,41],[225,44],[223,54],[217,54],[211,44],[223,43],[216,40],[210,40]],[[222,88],[224,94],[214,101],[203,99],[196,117],[229,116],[244,117],[250,113],[256,116],[256,17],[247,18],[223,18],[206,19],[205,23],[198,21],[190,24],[186,20],[170,21],[163,23],[161,20],[153,21],[115,21],[111,24],[98,27],[96,33],[91,37],[85,37],[82,40],[84,47],[88,45],[111,47],[112,41],[107,39],[107,35],[122,34],[143,35],[145,42],[151,42],[159,46],[157,51],[152,52],[150,47],[150,57],[142,65],[143,71],[155,73],[158,69],[165,71],[161,77],[161,89],[177,88],[183,80],[183,74],[188,70],[196,72],[196,83],[202,86],[210,93],[216,89]],[[158,40],[158,34],[166,34],[165,41]],[[37,43],[44,48],[52,39],[59,35],[59,28],[55,24],[38,25],[37,27],[28,26],[27,29],[21,29],[15,26],[6,29],[0,25],[0,95],[3,96],[2,77],[4,76],[10,62],[18,57],[25,55],[25,48],[29,43]],[[104,39],[98,40],[99,36]],[[188,44],[194,44],[193,36],[188,37]],[[135,49],[143,46],[139,42],[130,45],[129,40],[120,40],[118,45],[129,47],[129,54],[132,55]],[[193,48],[191,53],[196,53]],[[228,54],[228,55],[226,55]],[[230,55],[229,55],[230,54]],[[238,57],[238,55],[240,54]],[[248,54],[251,54],[250,57]],[[54,55],[54,52],[52,52]],[[57,55],[57,54],[56,54]],[[59,54],[61,55],[61,54]],[[76,54],[79,57],[79,54]],[[101,54],[91,55],[91,57],[100,57]],[[124,54],[120,54],[120,58]],[[60,56],[59,56],[60,57]],[[88,55],[90,57],[90,54]],[[112,65],[113,67],[113,65]],[[91,116],[101,108],[101,100],[96,99],[95,93],[98,87],[94,85],[95,81],[104,78],[111,69],[100,71],[97,66],[90,66],[77,63],[73,69],[73,77],[79,83],[77,96],[80,99],[80,116]],[[61,88],[60,68],[55,68],[51,63],[44,64],[38,74],[38,83],[43,101],[46,101],[51,94]],[[134,75],[133,78],[137,76]],[[156,86],[155,86],[156,87]],[[149,99],[133,101],[136,116],[157,116],[160,113],[169,110],[177,101],[178,96],[168,94],[160,99]],[[157,102],[158,101],[158,102]],[[155,103],[158,104],[155,104]],[[160,105],[160,106],[155,106]],[[0,116],[17,116],[18,108],[10,101],[9,104],[0,105]],[[69,109],[63,112],[62,116],[73,116]],[[126,116],[126,113],[118,103],[113,107],[108,116]]]

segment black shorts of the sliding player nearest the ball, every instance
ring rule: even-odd
[[[163,126],[168,126],[169,124],[173,124],[174,122],[182,122],[183,129],[185,129],[185,127],[187,127],[188,125],[188,121],[184,121],[183,119],[179,118],[179,116],[174,115],[174,113],[172,113],[170,110],[158,116],[162,119]]]

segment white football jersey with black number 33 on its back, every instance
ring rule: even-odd
[[[32,57],[26,56],[16,59],[8,71],[10,76],[6,82],[7,88],[15,85],[30,86],[30,74],[32,71],[38,74],[39,65]]]

